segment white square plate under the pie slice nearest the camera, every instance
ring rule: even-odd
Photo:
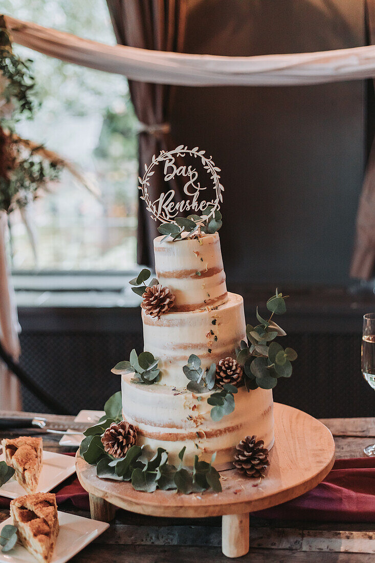
[[[65,563],[77,555],[81,549],[88,546],[93,539],[109,528],[106,522],[98,522],[90,518],[75,516],[66,512],[58,511],[60,531],[57,536],[56,546],[53,549],[51,563]],[[0,532],[4,526],[12,524],[8,518],[0,524]],[[36,559],[22,546],[18,544],[12,551],[2,553],[0,551],[0,563],[35,563]]]

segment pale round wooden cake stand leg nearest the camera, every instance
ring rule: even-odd
[[[222,517],[221,548],[227,557],[241,557],[249,551],[249,513]]]

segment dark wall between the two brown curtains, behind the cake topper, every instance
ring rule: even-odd
[[[185,52],[262,55],[365,43],[363,0],[190,1]],[[177,144],[222,169],[231,282],[347,283],[367,85],[176,88]]]

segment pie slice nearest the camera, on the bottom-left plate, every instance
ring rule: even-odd
[[[11,517],[20,543],[40,563],[51,561],[59,534],[56,497],[53,493],[35,493],[10,503]]]

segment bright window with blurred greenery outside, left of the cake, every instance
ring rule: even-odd
[[[115,43],[105,0],[1,0],[1,5],[19,19]],[[12,269],[131,270],[136,261],[137,137],[126,79],[16,44],[13,48],[34,61],[41,101],[33,120],[17,124],[17,133],[71,162],[92,191],[65,170],[23,217],[11,213]]]

